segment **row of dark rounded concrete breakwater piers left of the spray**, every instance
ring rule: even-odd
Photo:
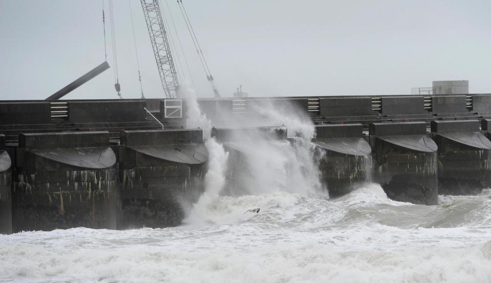
[[[129,130],[117,145],[108,132],[20,134],[0,157],[0,232],[11,233],[180,224],[208,152],[200,129]]]

